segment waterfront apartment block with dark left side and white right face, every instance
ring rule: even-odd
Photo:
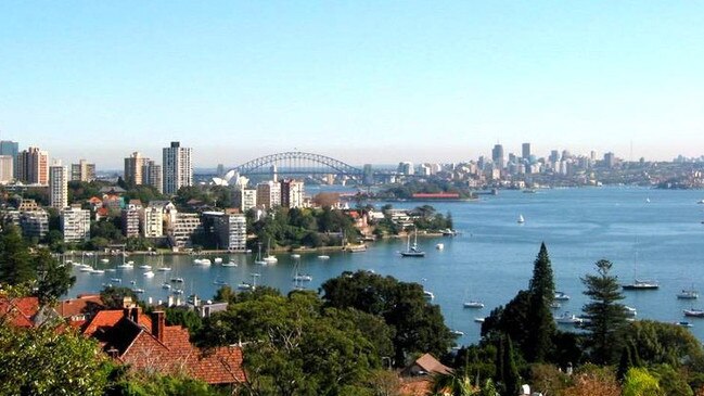
[[[216,248],[244,252],[247,242],[247,221],[243,214],[204,212],[203,229],[206,238],[214,237]]]

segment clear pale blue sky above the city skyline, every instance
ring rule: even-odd
[[[0,139],[99,168],[172,140],[196,167],[497,142],[699,156],[703,18],[696,1],[7,0]]]

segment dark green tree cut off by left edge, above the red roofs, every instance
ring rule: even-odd
[[[0,234],[0,283],[21,284],[35,279],[29,250],[20,229],[8,225]]]

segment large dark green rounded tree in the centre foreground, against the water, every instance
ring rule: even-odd
[[[325,305],[355,308],[384,318],[394,329],[397,365],[413,353],[441,356],[453,336],[437,305],[430,304],[418,283],[399,282],[367,271],[344,272],[322,284]]]

